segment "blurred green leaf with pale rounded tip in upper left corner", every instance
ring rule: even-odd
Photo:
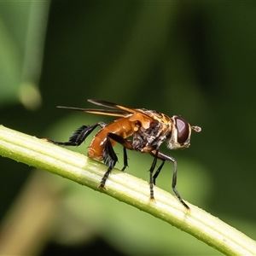
[[[0,104],[41,104],[38,81],[49,1],[0,3]]]

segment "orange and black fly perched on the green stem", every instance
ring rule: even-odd
[[[189,206],[183,201],[176,189],[177,161],[172,156],[160,152],[160,145],[166,141],[167,148],[170,149],[188,148],[190,145],[191,131],[200,132],[201,127],[191,126],[185,119],[177,115],[169,117],[164,113],[159,113],[154,110],[145,108],[126,108],[118,104],[100,100],[88,100],[88,102],[110,109],[58,108],[68,108],[83,111],[85,113],[109,115],[119,117],[119,119],[115,119],[109,124],[98,122],[95,125],[82,125],[79,129],[73,131],[68,142],[57,142],[51,139],[48,139],[48,141],[62,146],[79,146],[84,142],[86,137],[96,129],[96,127],[100,126],[100,131],[98,131],[91,140],[87,151],[87,155],[90,158],[103,161],[108,166],[108,170],[102,177],[99,188],[105,187],[108,176],[118,161],[113,146],[119,143],[123,146],[124,151],[124,167],[122,168],[122,171],[125,171],[125,168],[128,166],[126,149],[148,153],[154,157],[149,169],[150,200],[154,200],[154,185],[156,178],[159,176],[166,160],[171,161],[174,164],[172,190],[183,206],[189,209]],[[154,172],[157,160],[162,160],[162,163]]]

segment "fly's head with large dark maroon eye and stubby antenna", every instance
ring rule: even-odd
[[[180,116],[172,117],[172,135],[167,143],[170,149],[188,148],[190,145],[191,130],[196,132],[201,131],[199,126],[191,126]]]

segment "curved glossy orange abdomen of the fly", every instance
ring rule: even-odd
[[[136,122],[132,122],[129,117],[114,120],[113,123],[106,125],[96,133],[90,142],[87,155],[96,160],[103,160],[102,153],[107,142],[107,134],[111,132],[123,138],[130,137],[136,126]],[[113,140],[111,140],[111,143],[113,146],[116,144]]]

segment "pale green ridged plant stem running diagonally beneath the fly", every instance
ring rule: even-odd
[[[149,201],[148,183],[114,169],[98,189],[107,167],[75,153],[0,125],[0,154],[13,160],[66,177],[76,183],[113,196],[133,207],[148,212],[215,247],[226,255],[256,255],[256,242],[218,218],[189,204],[187,211],[177,198],[154,188],[155,201]]]

